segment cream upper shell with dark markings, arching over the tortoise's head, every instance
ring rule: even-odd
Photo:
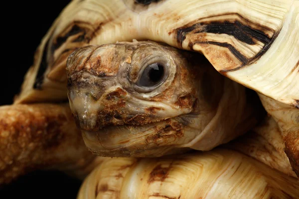
[[[133,39],[200,52],[226,77],[299,107],[299,0],[73,0],[43,38],[15,103],[67,100],[75,49]]]

